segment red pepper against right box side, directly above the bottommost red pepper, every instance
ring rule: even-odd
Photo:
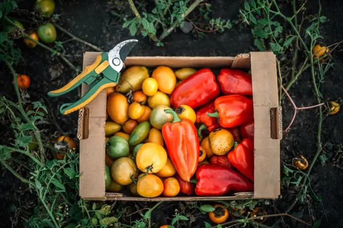
[[[254,181],[254,141],[246,138],[227,154],[228,161],[244,176]]]

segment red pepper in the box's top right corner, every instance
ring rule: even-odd
[[[251,75],[239,69],[222,69],[217,78],[221,93],[253,95]]]

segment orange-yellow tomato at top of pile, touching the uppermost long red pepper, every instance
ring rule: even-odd
[[[171,94],[175,89],[176,77],[175,73],[170,67],[158,66],[152,71],[151,78],[156,79],[158,90],[165,94]]]

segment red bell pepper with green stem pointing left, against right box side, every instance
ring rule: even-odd
[[[253,101],[242,95],[227,95],[214,101],[215,113],[208,116],[219,117],[224,128],[236,127],[254,120]]]

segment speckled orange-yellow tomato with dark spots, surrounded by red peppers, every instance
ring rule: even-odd
[[[209,141],[215,155],[226,155],[235,143],[232,133],[223,128],[213,130],[209,135]]]

